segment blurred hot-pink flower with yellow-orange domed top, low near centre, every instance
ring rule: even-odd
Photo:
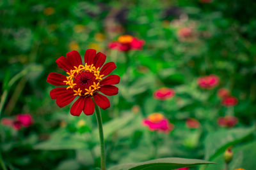
[[[174,128],[169,120],[161,113],[152,113],[142,121],[142,125],[147,126],[150,131],[168,133]]]

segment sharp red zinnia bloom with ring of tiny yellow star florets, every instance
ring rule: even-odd
[[[52,89],[50,96],[56,99],[56,103],[60,108],[71,103],[76,96],[79,96],[77,101],[70,109],[71,115],[79,116],[83,111],[85,115],[92,115],[94,112],[94,102],[102,109],[109,108],[110,103],[108,97],[99,94],[102,92],[107,96],[118,94],[118,88],[113,86],[119,83],[118,75],[110,75],[116,65],[114,62],[104,64],[106,55],[96,50],[88,49],[84,54],[83,65],[81,56],[77,51],[67,53],[67,58],[61,56],[56,60],[58,67],[67,71],[67,76],[59,73],[50,73],[47,77],[47,82],[58,87]],[[104,64],[104,66],[102,66]],[[101,67],[101,69],[100,69]],[[105,76],[108,76],[104,78]],[[104,79],[102,79],[104,78]]]

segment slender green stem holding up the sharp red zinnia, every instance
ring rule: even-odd
[[[101,118],[101,115],[100,115],[100,108],[99,108],[99,106],[95,103],[94,99],[93,99],[93,102],[95,104],[96,118],[97,118],[97,123],[98,123],[98,127],[99,127],[99,136],[100,136],[100,164],[101,164],[101,169],[102,170],[106,170],[106,155],[105,155],[105,145],[104,145],[102,118]]]

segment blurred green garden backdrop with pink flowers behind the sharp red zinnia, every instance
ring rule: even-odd
[[[255,10],[250,0],[0,1],[0,169],[100,169],[95,113],[74,117],[47,83],[66,75],[59,57],[87,49],[120,76],[101,110],[108,169],[165,157],[255,169]]]

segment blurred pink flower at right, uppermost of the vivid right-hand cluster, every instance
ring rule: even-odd
[[[218,85],[220,78],[214,74],[198,78],[198,86],[202,89],[212,89]]]

